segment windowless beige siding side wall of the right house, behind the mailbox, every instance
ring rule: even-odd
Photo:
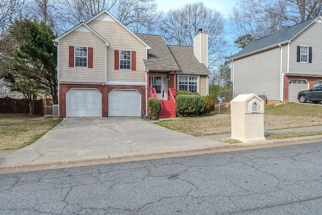
[[[267,100],[279,100],[280,65],[279,47],[234,60],[233,96],[265,93]]]

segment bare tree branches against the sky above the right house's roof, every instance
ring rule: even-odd
[[[322,0],[240,0],[238,6],[230,19],[236,37],[258,39],[320,15]]]

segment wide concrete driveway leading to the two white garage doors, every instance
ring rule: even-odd
[[[226,145],[173,131],[138,117],[65,118],[34,144],[3,154],[0,164]]]

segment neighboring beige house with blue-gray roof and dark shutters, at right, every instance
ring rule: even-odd
[[[297,101],[322,84],[322,17],[251,42],[231,57],[233,97],[255,93],[267,103]]]

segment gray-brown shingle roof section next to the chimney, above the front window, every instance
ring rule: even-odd
[[[178,73],[210,75],[207,66],[200,63],[193,54],[191,46],[168,45],[168,48],[180,67]]]

